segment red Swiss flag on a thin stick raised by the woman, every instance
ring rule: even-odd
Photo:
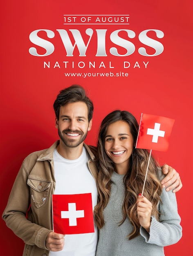
[[[135,148],[167,151],[174,119],[141,114]]]

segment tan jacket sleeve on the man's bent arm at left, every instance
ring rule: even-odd
[[[25,243],[46,249],[46,236],[51,230],[27,220],[25,215],[29,205],[30,190],[29,186],[27,186],[27,173],[23,163],[13,184],[2,218],[7,227]]]

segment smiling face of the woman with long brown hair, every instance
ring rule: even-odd
[[[130,126],[125,121],[117,121],[108,126],[105,136],[105,152],[114,162],[115,168],[128,170],[129,158],[133,150]]]

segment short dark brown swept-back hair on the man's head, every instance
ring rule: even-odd
[[[59,119],[59,112],[60,107],[65,106],[68,103],[82,101],[87,105],[88,108],[88,121],[92,119],[93,114],[93,103],[92,101],[86,96],[86,92],[81,85],[71,85],[60,91],[56,100],[54,101],[54,111],[56,114],[56,118]]]

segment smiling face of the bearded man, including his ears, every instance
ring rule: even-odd
[[[78,101],[60,107],[56,128],[58,128],[58,135],[65,146],[69,148],[79,146],[85,140],[91,127],[92,120],[88,122],[86,103]]]

